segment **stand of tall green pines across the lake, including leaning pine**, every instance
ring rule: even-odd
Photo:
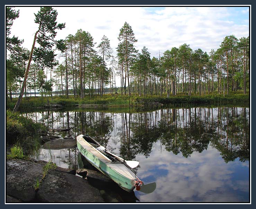
[[[116,49],[104,34],[96,44],[90,32],[83,29],[55,40],[57,30],[65,28],[65,23],[56,22],[57,15],[52,7],[41,7],[35,14],[38,30],[29,51],[22,47],[23,40],[10,32],[19,10],[6,7],[6,97],[11,100],[19,93],[16,111],[23,95],[36,96],[36,92],[84,98],[103,96],[107,88],[111,94],[167,97],[249,91],[249,37],[228,35],[210,53],[192,50],[184,43],[151,58],[147,46],[141,52],[136,49],[138,40],[127,22],[116,37]],[[117,56],[113,56],[113,50]],[[117,79],[121,79],[121,86],[116,85]]]

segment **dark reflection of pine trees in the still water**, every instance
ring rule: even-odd
[[[236,158],[249,160],[249,108],[245,107],[166,108],[130,113],[43,111],[24,115],[49,128],[70,127],[68,134],[73,137],[89,134],[127,160],[135,159],[137,154],[148,158],[158,141],[161,149],[175,155],[182,153],[184,158],[203,152],[210,144],[220,151],[225,162]]]

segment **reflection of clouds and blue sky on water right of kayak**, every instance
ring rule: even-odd
[[[157,151],[160,150],[160,142],[155,146],[147,160],[142,155],[136,156],[136,160],[143,162],[137,175],[141,180],[155,176],[157,183],[156,190],[151,194],[136,192],[142,202],[236,202],[239,199],[230,189],[248,192],[247,180],[232,180],[235,162],[228,166],[220,158],[220,153],[211,146],[202,153],[194,152],[190,158],[184,158],[182,154],[174,155],[164,147],[160,153]],[[154,172],[156,163],[159,167]],[[159,169],[168,172],[161,176]]]

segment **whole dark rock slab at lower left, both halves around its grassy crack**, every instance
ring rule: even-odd
[[[42,162],[43,163],[43,162]],[[88,180],[62,171],[48,170],[36,191],[36,178],[43,176],[44,164],[7,160],[6,194],[8,201],[21,202],[104,202],[98,189]]]

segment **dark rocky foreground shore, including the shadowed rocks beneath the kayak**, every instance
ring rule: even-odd
[[[6,203],[11,202],[136,202],[105,175],[90,169],[56,167],[43,178],[45,161],[7,160]],[[36,180],[42,179],[35,189]]]

